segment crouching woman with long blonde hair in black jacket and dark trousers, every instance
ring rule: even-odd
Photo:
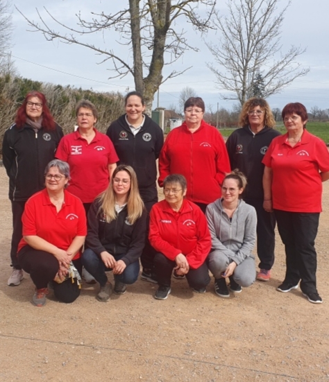
[[[112,293],[106,276],[108,270],[113,271],[117,295],[126,293],[126,284],[133,284],[140,272],[146,211],[132,167],[115,168],[108,189],[94,200],[87,220],[87,250],[83,252],[82,262],[100,284],[96,298],[106,302]]]

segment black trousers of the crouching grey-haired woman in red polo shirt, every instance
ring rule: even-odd
[[[29,273],[35,288],[47,288],[49,281],[53,281],[58,272],[59,263],[56,257],[49,252],[35,250],[26,245],[18,253],[19,263],[25,272]],[[72,261],[74,266],[81,272],[81,260]],[[76,279],[72,283],[71,279],[67,279],[61,284],[53,281],[53,293],[61,302],[74,302],[80,295],[80,289]]]

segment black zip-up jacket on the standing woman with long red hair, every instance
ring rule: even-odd
[[[42,127],[35,132],[27,123],[22,128],[14,123],[6,130],[2,160],[9,177],[10,200],[25,202],[44,188],[44,169],[54,159],[62,137],[62,128],[57,124],[53,131]]]

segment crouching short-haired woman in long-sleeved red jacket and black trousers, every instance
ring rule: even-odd
[[[183,175],[168,175],[163,182],[165,200],[156,203],[150,214],[149,240],[155,254],[155,275],[159,288],[155,299],[167,299],[171,293],[171,273],[186,275],[196,293],[205,293],[210,282],[205,259],[211,248],[207,221],[201,209],[184,196]]]

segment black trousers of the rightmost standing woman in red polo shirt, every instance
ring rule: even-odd
[[[320,214],[274,210],[278,231],[285,245],[285,281],[296,285],[301,280],[304,293],[317,292],[317,237]]]

